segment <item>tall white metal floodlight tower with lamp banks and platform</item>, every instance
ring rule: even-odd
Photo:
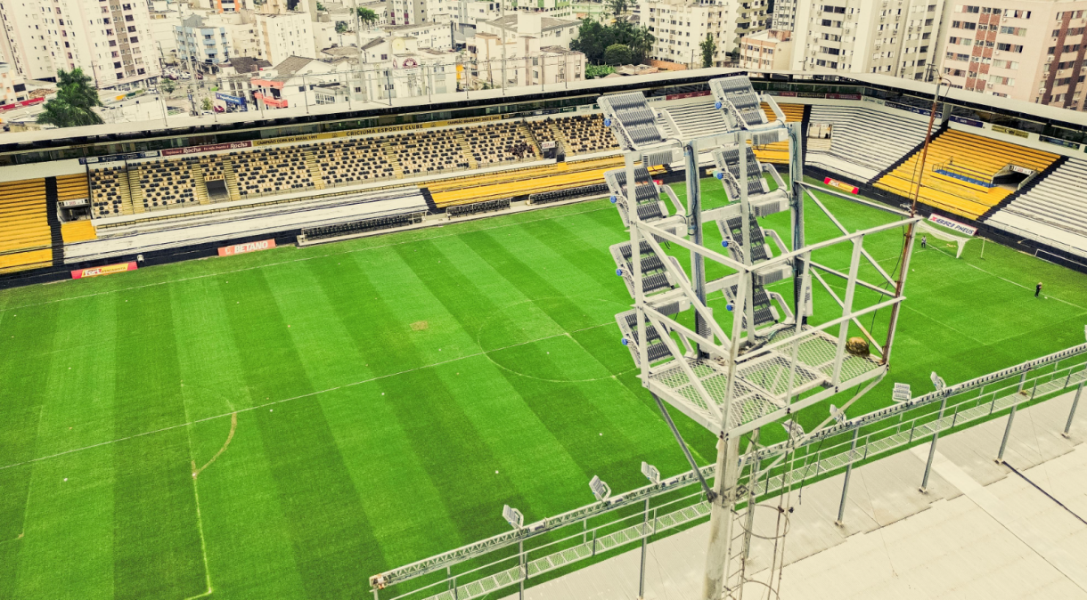
[[[774,99],[758,95],[746,76],[713,79],[710,88],[721,114],[720,130],[710,135],[684,137],[669,111],[654,110],[640,92],[604,96],[598,102],[625,159],[624,168],[604,174],[611,200],[630,232],[628,242],[611,248],[616,274],[624,278],[634,299],[633,310],[616,315],[623,343],[640,370],[642,386],[653,395],[696,473],[699,465],[663,402],[719,438],[712,489],[702,482],[711,503],[703,598],[719,600],[742,597],[748,582],[744,567],[751,540],[755,484],[760,468],[765,473],[782,459],[777,457],[777,462],[761,466],[766,457],[757,452],[760,427],[783,423],[789,439],[799,443],[805,434],[795,422],[786,421],[789,415],[839,390],[857,387],[859,393],[844,404],[844,411],[874,387],[887,372],[886,361],[871,357],[867,342],[863,343],[863,352],[847,352],[847,334],[850,325],[857,324],[874,339],[858,316],[897,305],[903,296],[899,285],[894,295],[884,290],[885,297],[891,296],[889,300],[864,309],[853,307],[859,284],[880,289],[858,277],[862,255],[870,257],[862,248],[864,236],[897,228],[901,223],[851,234],[842,227],[845,235],[839,238],[805,245],[800,124],[787,124]],[[773,117],[767,117],[763,103]],[[788,184],[772,165],[760,163],[752,150],[785,140],[789,145]],[[709,211],[701,205],[702,149],[712,155],[714,176],[729,199],[727,205]],[[653,179],[657,165],[676,162],[677,154],[682,154],[686,170],[686,207],[670,186]],[[767,185],[767,176],[776,184],[774,189]],[[675,205],[674,213],[661,200],[662,192]],[[819,205],[826,210],[822,203]],[[758,217],[783,211],[790,213],[789,245],[772,229],[763,230],[758,222]],[[717,224],[724,253],[703,243],[703,220]],[[917,218],[908,221],[914,223]],[[689,275],[664,252],[661,245],[665,242],[690,251]],[[848,274],[812,259],[813,252],[838,243],[852,245]],[[734,273],[708,282],[705,259]],[[812,267],[847,280],[844,298],[830,291],[841,307],[840,316],[817,326],[808,323],[808,316],[813,314]],[[884,273],[878,265],[876,268]],[[901,277],[905,272],[903,265]],[[767,288],[789,277],[794,282],[791,298]],[[830,289],[822,276],[816,277]],[[727,334],[707,304],[708,295],[717,292],[727,300],[727,313],[732,315]],[[694,329],[674,317],[688,310],[694,311]],[[889,353],[889,345],[888,340],[884,355]],[[865,383],[867,386],[861,390]],[[745,434],[750,439],[747,458],[740,455],[739,446]],[[745,468],[748,485],[741,487]],[[734,509],[741,500],[747,500],[746,514],[738,515]],[[744,528],[745,534],[734,535],[734,526]]]

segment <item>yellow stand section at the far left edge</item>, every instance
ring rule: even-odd
[[[45,179],[0,186],[0,273],[52,264],[46,210]]]

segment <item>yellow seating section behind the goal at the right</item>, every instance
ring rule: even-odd
[[[1058,155],[1050,152],[950,129],[933,138],[928,146],[917,200],[958,215],[978,218],[1015,191],[1012,186],[982,185],[984,179],[991,179],[1012,164],[1040,172],[1057,159]],[[915,180],[920,160],[921,151],[914,152],[892,172],[880,177],[875,187],[912,197],[912,182]],[[975,175],[958,178],[937,172],[937,168],[944,167],[950,173],[948,165],[954,165],[958,172]]]

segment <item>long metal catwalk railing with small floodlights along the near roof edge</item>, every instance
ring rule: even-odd
[[[739,486],[744,495],[753,486],[760,501],[773,498],[896,450],[933,442],[941,433],[1004,410],[1070,388],[1082,392],[1085,382],[1087,343],[745,455]],[[714,468],[700,471],[709,478]],[[497,508],[495,513],[498,518]],[[709,513],[698,478],[688,472],[375,575],[372,591],[375,600],[471,600],[514,586],[523,590],[545,575],[634,549],[651,537],[700,523]]]

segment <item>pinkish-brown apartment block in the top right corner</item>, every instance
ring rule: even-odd
[[[1084,110],[1087,2],[958,4],[944,30],[952,87]]]

